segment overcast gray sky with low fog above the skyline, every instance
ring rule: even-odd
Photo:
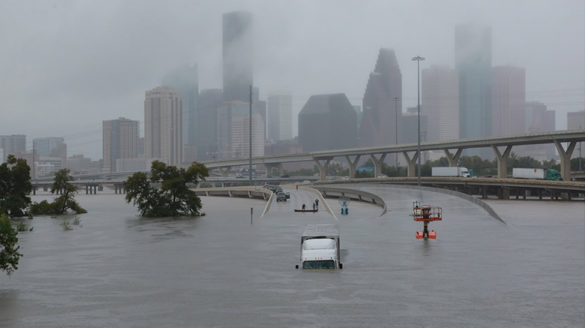
[[[493,65],[526,69],[527,100],[584,109],[583,0],[0,0],[0,135],[65,137],[69,155],[101,158],[102,121],[144,120],[144,92],[167,71],[199,66],[221,87],[221,15],[254,14],[261,98],[290,92],[295,115],[312,94],[361,105],[380,47],[396,51],[404,107],[416,104],[416,55],[454,66],[454,27],[492,28]],[[294,128],[296,131],[296,127]]]

